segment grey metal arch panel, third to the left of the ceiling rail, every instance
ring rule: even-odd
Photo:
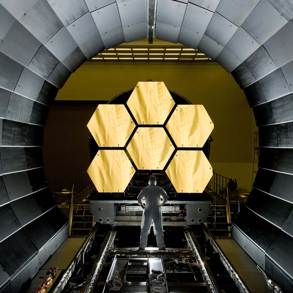
[[[68,25],[67,29],[88,59],[105,49],[91,13],[84,14],[74,23]]]

